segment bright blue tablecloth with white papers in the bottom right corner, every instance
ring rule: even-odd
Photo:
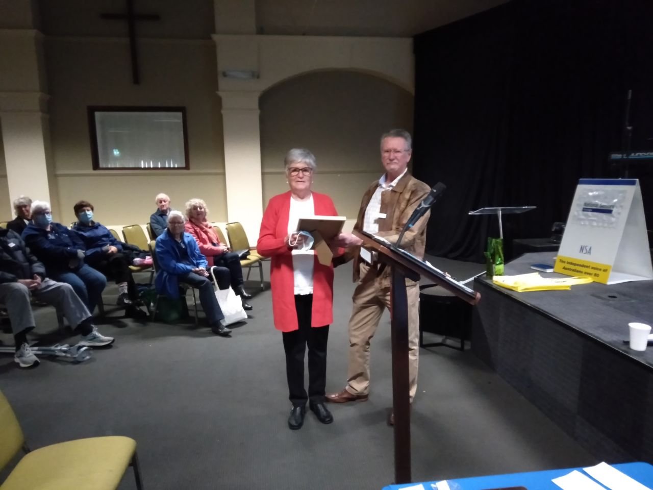
[[[594,466],[594,465],[587,465]],[[622,463],[620,465],[612,465],[620,472],[627,474],[638,482],[653,488],[653,466],[648,463]],[[547,470],[547,471],[534,471],[530,473],[511,473],[505,475],[492,475],[492,476],[475,476],[474,478],[459,478],[457,480],[447,480],[451,490],[487,490],[498,489],[505,487],[526,487],[527,490],[560,490],[560,487],[553,483],[553,478],[564,476],[565,474],[579,470],[582,473],[582,468],[565,468],[563,470]],[[586,476],[589,476],[586,474]],[[592,478],[592,477],[590,477]],[[435,483],[423,482],[425,490],[431,490],[431,484],[435,488]],[[389,485],[383,487],[383,490],[400,490],[410,485],[417,485],[418,483],[404,483],[402,485]]]

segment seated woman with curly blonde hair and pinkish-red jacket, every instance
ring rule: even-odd
[[[206,221],[208,208],[202,199],[191,199],[186,203],[186,233],[195,238],[197,246],[206,257],[208,267],[215,266],[214,274],[218,287],[225,289],[231,286],[236,295],[240,296],[245,310],[251,310],[251,304],[245,301],[251,298],[243,287],[243,269],[240,267],[238,254],[229,251],[226,244],[220,243],[215,230]]]

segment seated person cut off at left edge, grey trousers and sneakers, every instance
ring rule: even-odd
[[[14,361],[22,368],[39,363],[27,344],[27,333],[35,327],[30,293],[63,312],[73,331],[82,335],[78,345],[98,347],[114,342],[93,326],[91,314],[70,284],[47,278],[45,267],[18,233],[0,229],[0,304],[7,308],[16,341]]]

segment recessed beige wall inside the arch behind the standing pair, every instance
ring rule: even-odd
[[[261,96],[263,201],[288,190],[283,157],[293,147],[317,159],[313,188],[355,218],[360,198],[383,173],[379,137],[393,127],[411,131],[413,96],[381,78],[353,71],[298,76]]]

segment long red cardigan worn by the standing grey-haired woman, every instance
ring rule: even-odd
[[[272,257],[270,265],[272,312],[274,327],[282,332],[292,332],[298,329],[293,255],[283,243],[283,239],[288,235],[290,200],[290,192],[276,195],[270,199],[263,214],[261,233],[259,233],[259,241],[256,246],[258,253],[265,257]],[[326,194],[313,192],[313,205],[316,215],[338,216],[336,206]],[[333,266],[322,265],[316,255],[313,267],[311,327],[324,327],[332,322]]]

